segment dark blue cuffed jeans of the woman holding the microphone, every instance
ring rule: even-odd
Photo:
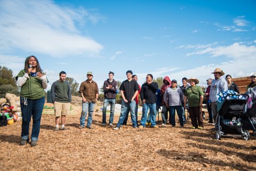
[[[40,132],[40,124],[45,97],[37,100],[27,99],[27,105],[24,105],[24,99],[24,97],[20,96],[20,107],[22,113],[21,139],[29,139],[29,124],[32,116],[33,127],[31,133],[31,141],[37,141]]]

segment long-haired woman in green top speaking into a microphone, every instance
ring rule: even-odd
[[[17,84],[21,87],[22,128],[20,145],[26,145],[29,141],[29,124],[32,117],[31,146],[35,146],[37,145],[45,101],[44,89],[47,88],[48,83],[36,56],[28,56],[25,60],[25,67],[19,72],[16,80]]]

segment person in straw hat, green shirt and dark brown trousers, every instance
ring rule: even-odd
[[[199,83],[197,78],[191,77],[188,79],[188,83],[191,86],[185,91],[184,101],[188,100],[189,116],[192,123],[191,129],[203,129],[202,107],[204,92],[200,86],[196,85]],[[186,103],[184,104],[184,109],[186,109]]]

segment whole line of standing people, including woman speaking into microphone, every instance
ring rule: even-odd
[[[179,117],[181,127],[186,123],[185,110],[189,112],[192,123],[192,129],[203,129],[202,105],[204,96],[207,101],[207,110],[209,112],[209,123],[213,123],[217,117],[217,94],[221,91],[233,89],[239,93],[237,85],[231,81],[231,76],[227,75],[226,80],[222,78],[225,73],[217,68],[212,72],[214,79],[207,79],[206,91],[198,86],[199,80],[195,77],[187,79],[182,78],[182,86],[177,86],[177,80],[171,80],[168,76],[163,79],[163,86],[158,88],[158,84],[153,82],[153,75],[146,76],[146,82],[140,85],[137,83],[138,77],[133,75],[131,70],[126,71],[127,79],[124,80],[118,89],[115,81],[114,72],[109,72],[109,78],[103,84],[104,102],[102,111],[102,126],[107,125],[106,111],[110,104],[110,117],[108,125],[118,130],[122,125],[126,125],[129,112],[131,113],[131,121],[133,128],[144,128],[150,125],[152,128],[158,128],[156,124],[156,115],[162,107],[163,124],[167,124],[168,112],[170,114],[169,123],[175,127],[175,113]],[[61,71],[59,80],[55,81],[51,86],[51,99],[54,104],[55,112],[55,130],[65,130],[66,115],[69,113],[71,102],[70,85],[65,80],[66,72]],[[22,69],[17,77],[17,84],[21,87],[20,103],[22,113],[22,128],[20,145],[26,145],[29,141],[29,125],[31,117],[33,118],[33,128],[31,131],[31,146],[37,145],[38,135],[41,125],[41,116],[45,102],[45,91],[48,79],[40,67],[38,59],[31,55],[25,60],[24,69]],[[98,101],[99,88],[94,82],[92,72],[87,72],[87,79],[81,83],[79,93],[82,97],[82,112],[80,117],[79,129],[85,127],[92,128],[92,119],[94,105]],[[256,86],[256,73],[251,76],[251,84],[247,88]],[[120,91],[122,96],[121,114],[117,125],[114,127],[114,112],[116,103],[116,94]],[[138,103],[139,94],[142,101],[142,117],[138,126]],[[148,113],[149,111],[149,113]],[[61,121],[61,127],[59,123]]]

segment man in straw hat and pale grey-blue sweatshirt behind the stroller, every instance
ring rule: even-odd
[[[216,95],[222,91],[227,91],[228,83],[224,78],[221,77],[225,73],[220,68],[216,68],[214,72],[212,72],[212,74],[214,74],[215,79],[212,80],[212,85],[210,90],[210,101],[211,101],[211,107],[212,107],[213,120],[214,122],[216,122],[216,118],[218,114]]]

